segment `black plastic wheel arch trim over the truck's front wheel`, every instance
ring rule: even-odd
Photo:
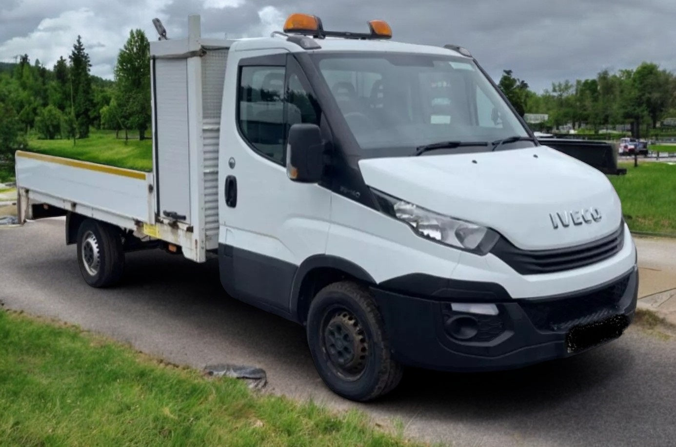
[[[343,280],[376,284],[366,270],[352,261],[331,255],[309,257],[299,265],[291,284],[291,314],[305,324],[314,295],[325,286]]]

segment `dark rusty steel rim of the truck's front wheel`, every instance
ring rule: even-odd
[[[324,358],[335,375],[350,382],[366,371],[368,338],[357,317],[344,307],[324,313],[320,336]]]

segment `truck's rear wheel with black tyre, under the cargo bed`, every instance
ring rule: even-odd
[[[87,284],[104,288],[120,282],[124,250],[119,231],[107,223],[86,219],[78,228],[77,245],[80,273]]]

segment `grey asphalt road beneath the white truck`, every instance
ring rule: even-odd
[[[312,397],[376,419],[400,419],[406,435],[455,445],[673,445],[676,341],[638,327],[565,361],[502,373],[407,371],[379,402],[355,404],[318,378],[304,330],[229,298],[218,265],[160,251],[130,253],[124,284],[87,286],[64,221],[0,228],[0,300],[107,334],[168,361],[266,369],[268,390]]]

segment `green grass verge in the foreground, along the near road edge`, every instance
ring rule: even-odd
[[[0,445],[397,446],[357,411],[251,392],[0,310]]]

